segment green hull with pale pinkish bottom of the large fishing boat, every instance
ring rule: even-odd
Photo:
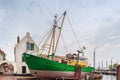
[[[76,66],[58,63],[27,53],[24,53],[23,56],[31,73],[36,77],[73,77],[76,71]],[[82,67],[81,69],[82,74],[92,72],[93,70],[93,67]]]

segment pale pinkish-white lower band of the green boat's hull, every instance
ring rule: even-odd
[[[37,78],[74,78],[75,72],[63,72],[63,71],[42,71],[42,70],[30,70],[31,74]],[[82,72],[81,76],[86,75],[87,72]]]

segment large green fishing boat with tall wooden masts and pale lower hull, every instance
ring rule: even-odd
[[[69,65],[67,63],[66,64],[60,63],[54,60],[60,34],[61,34],[61,30],[62,30],[63,23],[64,23],[65,15],[66,15],[66,12],[63,14],[61,27],[57,26],[57,17],[55,16],[54,25],[52,27],[52,31],[50,32],[51,36],[49,35],[47,37],[47,40],[45,40],[44,45],[40,49],[41,51],[45,50],[45,45],[48,46],[48,43],[50,44],[47,58],[42,57],[41,56],[42,53],[40,53],[39,56],[32,55],[29,52],[23,53],[24,60],[26,64],[28,65],[28,68],[31,74],[37,78],[74,78],[76,76],[76,73],[78,76],[84,76],[87,73],[90,73],[94,70],[94,68],[90,66],[78,65],[78,63],[80,63],[79,55],[78,55],[75,65],[73,64]],[[55,30],[57,27],[59,28],[60,31],[56,39]]]

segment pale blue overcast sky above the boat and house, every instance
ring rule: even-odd
[[[86,47],[85,56],[91,64],[95,47],[96,64],[110,64],[112,58],[113,62],[120,62],[120,0],[0,0],[0,48],[7,59],[14,60],[18,35],[23,38],[30,32],[39,43],[41,35],[51,27],[54,15],[60,16],[64,11],[81,46]],[[62,35],[68,50],[76,53],[78,48],[69,30],[66,18]]]

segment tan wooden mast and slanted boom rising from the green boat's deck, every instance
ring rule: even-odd
[[[53,27],[52,27],[52,31],[50,32],[50,35],[48,35],[47,39],[45,40],[44,45],[40,49],[41,53],[42,53],[42,50],[44,50],[44,48],[46,48],[45,46],[48,45],[47,43],[49,43],[48,58],[49,58],[49,56],[52,56],[52,60],[53,60],[54,54],[56,53],[56,49],[57,49],[59,38],[60,38],[60,35],[61,35],[61,31],[62,31],[64,19],[65,19],[65,15],[66,15],[66,11],[63,13],[62,23],[61,23],[61,26],[58,27],[60,30],[59,30],[59,33],[58,33],[58,36],[57,36],[56,39],[55,39],[55,36],[56,36],[55,34],[56,34],[56,27],[57,27],[57,15],[55,16],[54,24],[53,24]],[[50,54],[50,53],[52,53],[52,54]]]

